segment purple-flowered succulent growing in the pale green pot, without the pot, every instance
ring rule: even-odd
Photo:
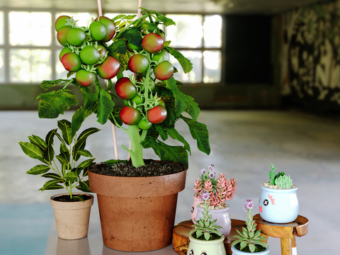
[[[212,220],[212,215],[210,214],[208,199],[210,198],[209,193],[204,191],[200,199],[203,200],[203,204],[200,204],[203,208],[203,217],[200,217],[199,220],[194,220],[196,222],[193,227],[194,229],[189,232],[189,235],[192,234],[196,239],[205,239],[206,241],[212,239],[218,239],[222,237],[222,233],[218,229],[222,229],[221,226],[216,225],[216,219]]]

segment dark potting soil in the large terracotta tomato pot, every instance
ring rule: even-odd
[[[125,176],[125,177],[142,177],[142,176],[162,176],[166,174],[176,174],[186,169],[186,166],[169,161],[157,161],[154,159],[145,159],[145,166],[135,167],[132,162],[128,161],[108,161],[99,164],[93,164],[89,171],[95,174],[107,176]]]

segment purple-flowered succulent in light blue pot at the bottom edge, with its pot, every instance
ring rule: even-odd
[[[248,212],[246,217],[246,227],[242,227],[242,232],[236,229],[237,239],[232,242],[232,254],[245,255],[256,253],[261,255],[269,254],[269,247],[266,244],[266,237],[261,236],[261,230],[256,230],[256,223],[253,220],[254,203],[251,199],[246,200],[244,210]]]

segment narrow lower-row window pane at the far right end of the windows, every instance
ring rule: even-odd
[[[214,83],[221,81],[221,52],[219,50],[205,50],[203,52],[203,82]]]

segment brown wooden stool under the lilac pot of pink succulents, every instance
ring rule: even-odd
[[[177,224],[173,229],[172,234],[172,246],[174,247],[174,251],[176,254],[186,255],[188,252],[188,246],[189,246],[189,232],[193,227],[193,222],[191,220],[186,220],[183,222],[180,222]],[[225,251],[227,255],[232,254],[232,242],[236,238],[233,236],[237,234],[236,229],[239,229],[239,231],[242,231],[242,227],[246,227],[246,222],[244,220],[234,220],[232,219],[232,230],[229,234],[229,236],[225,239]]]

